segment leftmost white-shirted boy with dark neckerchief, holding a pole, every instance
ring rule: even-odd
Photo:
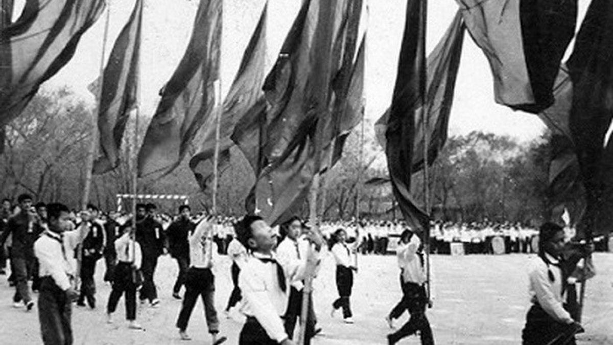
[[[64,204],[48,204],[48,230],[34,243],[40,264],[38,300],[40,331],[45,345],[72,344],[72,267],[66,258],[63,233],[70,222],[70,211]]]

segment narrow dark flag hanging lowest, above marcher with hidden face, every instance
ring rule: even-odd
[[[428,215],[413,201],[415,121],[417,109],[425,101],[425,0],[409,0],[406,6],[405,31],[400,47],[398,74],[387,120],[386,157],[392,190],[405,217],[414,231],[425,233]]]

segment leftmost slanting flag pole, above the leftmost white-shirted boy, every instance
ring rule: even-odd
[[[109,36],[109,19],[110,19],[110,5],[107,5],[107,18],[104,24],[104,35],[102,36],[102,53],[100,57],[100,77],[98,79],[98,101],[96,103],[96,110],[94,111],[94,116],[92,117],[92,127],[91,127],[91,143],[89,145],[89,152],[87,154],[87,160],[85,163],[85,185],[83,186],[83,200],[81,202],[82,209],[87,207],[87,203],[89,202],[89,190],[91,190],[91,178],[92,178],[92,169],[94,167],[94,158],[96,158],[96,149],[98,147],[98,126],[97,126],[97,118],[98,112],[100,111],[100,103],[102,101],[102,78],[104,76],[104,56],[106,55],[107,49],[107,36]]]

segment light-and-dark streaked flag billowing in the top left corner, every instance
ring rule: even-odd
[[[70,61],[104,7],[104,0],[26,1],[18,20],[0,34],[0,128]]]

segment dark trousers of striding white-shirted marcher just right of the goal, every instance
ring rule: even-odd
[[[215,276],[210,268],[190,267],[185,273],[185,296],[177,319],[177,328],[185,331],[198,297],[202,297],[208,332],[219,333],[219,319],[215,310]]]

